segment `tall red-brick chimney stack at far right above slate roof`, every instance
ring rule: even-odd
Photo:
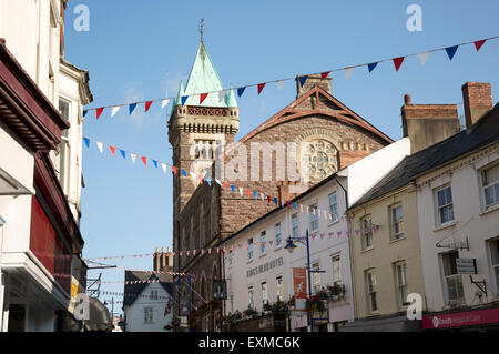
[[[466,82],[461,90],[466,128],[469,129],[492,109],[492,88],[487,82]]]

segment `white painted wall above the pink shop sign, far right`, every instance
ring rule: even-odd
[[[499,284],[493,279],[487,247],[487,242],[499,235],[499,205],[485,212],[479,176],[481,168],[498,160],[499,153],[496,150],[496,152],[488,152],[472,162],[467,162],[451,173],[442,172],[458,162],[442,166],[437,172],[428,173],[417,181],[419,185],[417,191],[419,242],[428,311],[441,311],[447,306],[439,253],[448,252],[450,249],[437,247],[436,244],[439,241],[449,244],[464,242],[468,237],[469,251],[459,251],[459,257],[477,259],[478,274],[473,275],[473,279],[487,282],[488,297],[483,295],[483,303],[499,300]],[[467,159],[461,161],[467,161]],[[429,178],[435,178],[435,180],[424,183]],[[452,191],[455,222],[447,227],[438,227],[435,189],[447,183],[450,184]],[[469,275],[461,275],[461,277],[466,305],[479,304],[476,297],[478,287],[470,283]]]

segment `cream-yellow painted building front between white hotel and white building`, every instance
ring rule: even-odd
[[[381,185],[391,178],[389,173]],[[407,320],[407,295],[425,293],[415,188],[409,182],[381,195],[376,192],[379,190],[371,190],[347,212],[355,317],[381,320],[357,322],[363,330],[378,331],[379,326],[387,326],[387,331],[411,330],[419,323]],[[422,311],[424,304],[425,301]]]

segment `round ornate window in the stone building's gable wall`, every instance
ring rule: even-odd
[[[336,148],[326,140],[310,141],[310,180],[319,181],[337,171]]]

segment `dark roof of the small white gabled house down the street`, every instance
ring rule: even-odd
[[[173,275],[164,274],[164,273],[150,273],[142,271],[125,271],[125,282],[133,281],[149,281],[149,280],[159,280],[160,284],[164,287],[170,295],[173,296]],[[150,283],[138,283],[138,284],[128,284],[124,285],[124,295],[123,295],[123,306],[132,305],[135,300],[139,297],[145,287],[147,287]]]

